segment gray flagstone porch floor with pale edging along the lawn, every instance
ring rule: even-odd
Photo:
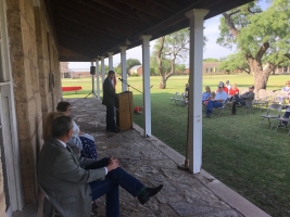
[[[80,130],[96,139],[98,158],[116,156],[122,167],[148,187],[164,184],[144,206],[121,188],[123,217],[266,217],[269,216],[238,193],[202,170],[198,175],[177,169],[185,157],[155,137],[142,137],[142,129],[112,133],[105,131],[105,106],[96,98],[71,99],[72,116]],[[98,217],[105,216],[104,196],[99,199]],[[37,203],[13,217],[37,216]],[[40,216],[40,215],[38,215]]]

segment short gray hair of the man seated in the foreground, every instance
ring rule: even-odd
[[[74,127],[73,118],[70,116],[60,116],[53,119],[51,136],[54,138],[64,136]]]

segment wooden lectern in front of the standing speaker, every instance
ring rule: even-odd
[[[118,93],[115,107],[116,126],[121,131],[130,129],[133,127],[133,93],[130,91]]]

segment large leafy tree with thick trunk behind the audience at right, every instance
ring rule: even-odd
[[[251,2],[223,13],[217,43],[237,46],[253,73],[256,91],[266,89],[274,67],[290,59],[289,23],[289,0],[273,0],[264,12]]]

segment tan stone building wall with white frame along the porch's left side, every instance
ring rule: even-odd
[[[11,216],[38,197],[42,118],[60,100],[61,74],[42,0],[0,0],[0,216]]]

